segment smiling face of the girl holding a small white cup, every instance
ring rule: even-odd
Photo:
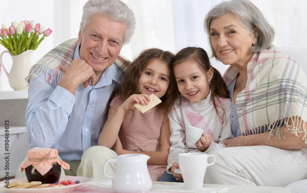
[[[213,76],[210,68],[205,74],[199,65],[189,60],[179,63],[174,67],[174,74],[179,92],[192,103],[206,99],[210,89],[209,82]]]

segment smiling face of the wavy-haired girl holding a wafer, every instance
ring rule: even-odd
[[[161,98],[169,87],[170,68],[159,59],[153,59],[142,71],[138,79],[138,87],[141,94],[155,94]]]

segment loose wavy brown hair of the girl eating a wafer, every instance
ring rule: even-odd
[[[165,63],[171,69],[171,62],[175,55],[169,51],[163,51],[158,48],[150,48],[141,52],[141,54],[134,59],[126,72],[126,77],[122,81],[122,84],[117,88],[111,95],[108,102],[108,109],[111,103],[111,100],[115,95],[119,95],[119,100],[126,100],[133,94],[140,94],[138,87],[138,79],[141,77],[142,71],[147,67],[147,65],[154,59],[158,59],[161,62]],[[157,105],[158,108],[164,110],[165,114],[168,114],[173,105],[173,90],[176,89],[177,85],[174,85],[174,81],[170,76],[169,87],[163,97],[161,97],[161,103]],[[108,115],[108,112],[106,113]]]

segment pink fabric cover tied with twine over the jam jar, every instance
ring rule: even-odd
[[[21,165],[21,172],[29,165],[33,165],[33,171],[36,169],[44,176],[51,168],[52,163],[57,162],[64,169],[70,169],[68,163],[59,160],[57,149],[32,149],[27,152],[28,160]]]

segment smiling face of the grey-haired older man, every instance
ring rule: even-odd
[[[102,74],[119,55],[125,32],[126,24],[101,15],[93,15],[83,33],[79,32],[80,58],[85,60],[96,74]]]

